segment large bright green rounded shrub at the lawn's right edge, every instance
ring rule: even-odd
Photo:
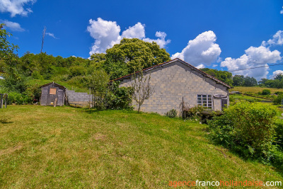
[[[209,121],[209,138],[246,158],[268,160],[274,148],[275,115],[270,105],[238,102]]]

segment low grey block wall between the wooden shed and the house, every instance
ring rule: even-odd
[[[88,93],[76,93],[75,91],[66,90],[68,103],[78,105],[89,105],[93,101],[93,96]]]

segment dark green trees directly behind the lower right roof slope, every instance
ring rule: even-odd
[[[209,68],[203,68],[200,69],[204,71],[205,73],[214,76],[216,79],[219,79],[220,81],[223,81],[226,84],[229,84],[229,86],[232,86],[233,80],[232,80],[232,73],[229,71],[221,71],[217,69],[209,69]]]

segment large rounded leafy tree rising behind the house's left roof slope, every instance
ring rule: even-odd
[[[130,74],[169,60],[169,53],[165,49],[160,48],[156,42],[144,42],[137,38],[124,38],[120,44],[116,44],[106,50],[103,67],[109,74],[110,71],[116,71],[110,69],[110,67],[115,67],[115,64],[117,64],[118,74],[112,74],[111,78],[115,79],[115,77],[123,76],[122,74]],[[120,70],[121,67],[122,70]],[[125,70],[125,68],[127,69]]]

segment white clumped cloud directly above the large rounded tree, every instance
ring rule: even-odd
[[[161,47],[165,47],[170,42],[170,40],[165,40],[166,33],[163,32],[156,32],[158,39],[145,38],[145,25],[141,23],[136,23],[134,26],[127,28],[122,32],[122,35],[120,35],[120,25],[117,25],[115,21],[104,21],[102,18],[98,18],[97,21],[89,20],[89,24],[87,30],[95,40],[89,55],[104,53],[107,49],[119,43],[122,38],[139,38],[147,42],[154,41]]]

